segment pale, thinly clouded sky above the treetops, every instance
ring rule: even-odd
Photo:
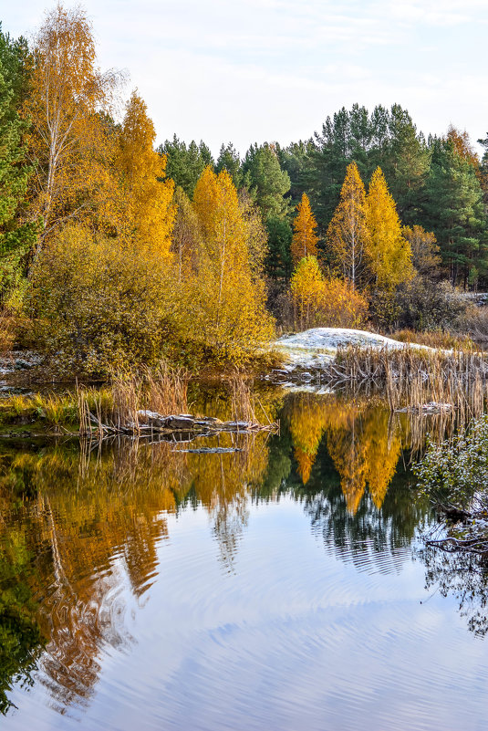
[[[29,36],[47,0],[2,3]],[[73,5],[66,3],[66,5]],[[488,132],[486,0],[85,0],[101,68],[126,69],[157,141],[309,138],[358,102],[399,103],[419,130]]]

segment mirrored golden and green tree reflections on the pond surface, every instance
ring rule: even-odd
[[[230,418],[220,392],[200,411]],[[233,574],[250,506],[291,496],[327,552],[357,569],[398,571],[429,509],[411,499],[401,459],[405,415],[378,400],[265,392],[279,437],[223,433],[206,446],[120,441],[0,445],[0,710],[14,684],[47,688],[66,709],[90,703],[106,648],[137,638],[126,613],[158,581],[169,518],[202,506],[225,573]],[[280,411],[281,410],[281,411]],[[189,587],[187,590],[191,591]],[[36,671],[36,673],[34,673]]]

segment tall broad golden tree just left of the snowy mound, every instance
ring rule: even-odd
[[[263,281],[252,272],[249,228],[232,177],[208,166],[196,184],[193,206],[202,245],[197,255],[192,337],[213,356],[242,361],[274,333],[265,310]]]

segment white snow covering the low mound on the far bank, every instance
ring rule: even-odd
[[[346,348],[348,345],[387,350],[402,348],[433,350],[426,345],[404,343],[374,332],[345,328],[312,328],[296,335],[284,335],[274,343],[275,349],[286,358],[283,366],[286,371],[296,368],[319,371],[321,366],[334,360],[337,348]]]

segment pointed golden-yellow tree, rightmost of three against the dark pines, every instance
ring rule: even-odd
[[[392,290],[413,276],[410,243],[381,168],[373,172],[366,198],[369,268],[376,287]]]

